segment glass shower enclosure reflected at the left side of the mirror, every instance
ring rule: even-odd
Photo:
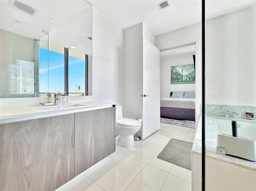
[[[47,33],[14,19],[11,26],[16,33],[1,29],[1,98],[38,96],[39,44]]]

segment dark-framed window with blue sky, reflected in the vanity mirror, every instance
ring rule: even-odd
[[[69,96],[88,95],[88,55],[52,43],[49,51],[40,45],[39,80],[40,95],[58,91],[67,91]]]

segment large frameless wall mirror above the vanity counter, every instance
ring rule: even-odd
[[[8,0],[1,8],[1,98],[91,95],[92,6]]]

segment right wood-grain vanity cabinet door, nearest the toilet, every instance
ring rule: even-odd
[[[75,113],[75,176],[115,151],[115,107]]]

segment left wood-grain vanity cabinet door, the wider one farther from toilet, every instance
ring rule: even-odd
[[[53,191],[74,177],[74,114],[2,124],[1,190]]]

